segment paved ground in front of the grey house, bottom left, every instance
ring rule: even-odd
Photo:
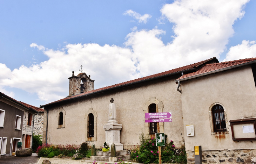
[[[36,164],[40,157],[36,156],[35,153],[29,157],[2,157],[0,158],[0,164]]]

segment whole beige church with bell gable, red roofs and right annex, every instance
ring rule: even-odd
[[[43,143],[87,141],[101,148],[109,100],[114,98],[124,149],[138,145],[141,132],[155,137],[156,124],[145,123],[145,113],[158,109],[171,112],[172,122],[160,122],[160,132],[177,147],[185,141],[188,163],[194,163],[198,145],[204,163],[250,163],[256,157],[255,63],[256,58],[219,63],[214,57],[96,90],[90,76],[73,72],[68,97],[41,106]]]

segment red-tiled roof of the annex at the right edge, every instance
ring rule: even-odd
[[[188,74],[184,74],[175,82],[177,83],[178,81],[184,81],[192,78],[197,78],[200,76],[205,76],[207,74],[212,74],[216,72],[221,72],[224,70],[228,69],[233,69],[235,67],[240,67],[248,64],[256,63],[256,58],[249,58],[249,59],[240,59],[240,60],[233,60],[229,62],[222,62],[222,63],[213,63],[213,64],[206,64],[202,66],[200,69],[198,69],[195,72],[191,72]]]

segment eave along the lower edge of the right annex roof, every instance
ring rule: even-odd
[[[249,64],[253,64],[253,63],[256,63],[256,60],[251,61],[251,62],[247,62],[247,63],[243,63],[243,64],[238,64],[238,65],[226,67],[226,68],[215,70],[215,71],[211,71],[211,72],[206,72],[206,73],[198,74],[196,76],[191,76],[191,77],[187,77],[187,78],[184,78],[184,79],[177,79],[177,80],[175,80],[175,82],[178,83],[178,81],[181,82],[181,81],[184,81],[184,80],[194,79],[194,78],[205,76],[205,75],[208,75],[208,74],[217,73],[217,72],[221,72],[221,71],[225,71],[225,70],[230,70],[230,69],[233,69],[233,68],[237,68],[237,67],[241,67],[241,66],[245,66],[245,65],[249,65]]]

